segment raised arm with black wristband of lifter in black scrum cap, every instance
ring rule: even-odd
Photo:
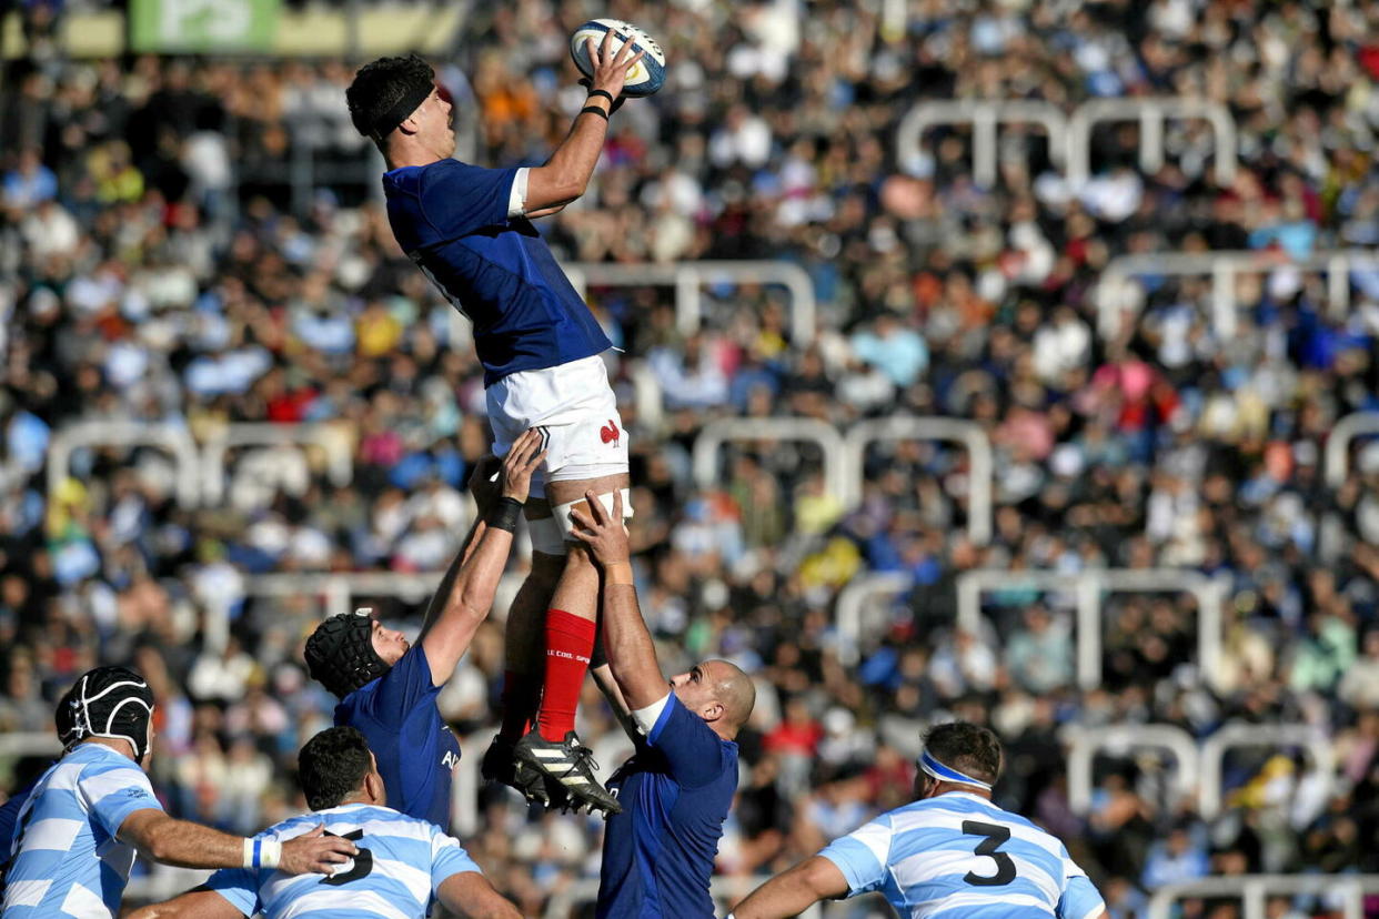
[[[437,686],[455,672],[455,664],[469,650],[474,631],[494,605],[512,553],[513,530],[531,489],[531,474],[546,456],[541,444],[541,433],[531,430],[507,451],[499,495],[487,510],[484,526],[474,529],[477,543],[473,551],[461,550],[437,591],[437,598],[444,591],[443,605],[437,610],[433,599],[426,613],[419,641]]]

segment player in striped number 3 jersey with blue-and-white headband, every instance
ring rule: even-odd
[[[924,739],[917,801],[757,887],[728,919],[781,919],[877,890],[902,916],[1099,919],[1106,907],[1054,836],[992,803],[1001,741],[952,722]]]

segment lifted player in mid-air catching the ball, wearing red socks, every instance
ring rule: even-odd
[[[641,54],[632,54],[632,43],[615,54],[605,37],[590,59],[586,106],[546,164],[531,168],[451,158],[451,105],[415,55],[365,65],[346,98],[354,127],[387,163],[383,192],[399,245],[473,324],[494,452],[505,453],[528,428],[545,438],[546,462],[525,511],[532,573],[507,616],[503,722],[484,776],[528,795],[542,795],[550,778],[578,803],[616,810],[574,730],[594,646],[598,572],[571,539],[570,510],[586,491],[605,504],[622,492],[632,515],[627,435],[600,357],[608,336],[531,223],[585,193],[608,116]]]

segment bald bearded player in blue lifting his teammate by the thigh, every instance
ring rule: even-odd
[[[712,919],[709,878],[738,789],[735,737],[756,688],[725,660],[661,672],[632,580],[622,496],[611,511],[593,492],[571,513],[598,565],[603,641],[636,754],[608,781],[622,813],[604,834],[597,919]],[[615,703],[618,700],[615,699]]]

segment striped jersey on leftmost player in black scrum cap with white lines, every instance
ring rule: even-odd
[[[102,744],[79,744],[48,767],[15,820],[4,919],[120,911],[134,846],[116,839],[135,810],[163,810],[137,762]]]

